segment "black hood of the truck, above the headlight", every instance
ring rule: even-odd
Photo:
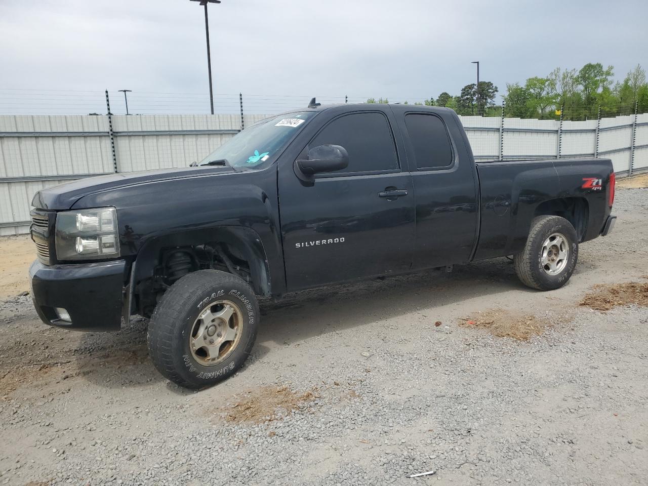
[[[145,170],[141,172],[121,172],[106,176],[89,177],[48,187],[36,192],[32,206],[36,209],[64,210],[70,209],[80,198],[96,192],[110,191],[121,187],[149,184],[170,179],[185,179],[194,177],[232,174],[231,167],[186,167],[161,170]]]

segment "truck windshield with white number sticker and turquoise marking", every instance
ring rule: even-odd
[[[198,165],[230,165],[235,168],[258,169],[281,150],[316,111],[297,111],[262,120],[237,133],[216,148]],[[210,164],[211,163],[211,164]]]

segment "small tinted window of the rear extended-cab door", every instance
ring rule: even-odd
[[[452,145],[445,124],[435,115],[408,113],[405,126],[410,135],[418,170],[434,170],[452,165]]]

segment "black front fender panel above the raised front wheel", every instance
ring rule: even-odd
[[[255,292],[270,295],[285,288],[278,203],[273,165],[118,187],[89,194],[73,208],[117,208],[121,255],[137,260],[135,284],[152,274],[157,249],[228,238],[251,259]]]

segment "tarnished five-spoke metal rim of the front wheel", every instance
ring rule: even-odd
[[[243,331],[240,309],[231,301],[216,301],[194,321],[189,334],[189,349],[203,366],[221,364],[236,349]]]

